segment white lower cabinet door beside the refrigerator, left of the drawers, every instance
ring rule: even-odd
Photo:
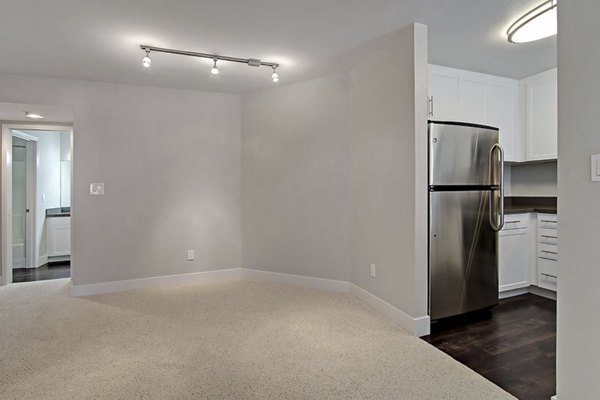
[[[529,286],[529,239],[527,229],[505,231],[498,238],[500,292]]]

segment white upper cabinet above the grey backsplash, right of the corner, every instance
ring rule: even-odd
[[[557,70],[521,81],[526,90],[528,161],[556,159],[558,153]]]

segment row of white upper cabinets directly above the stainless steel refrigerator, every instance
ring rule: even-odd
[[[517,130],[519,82],[455,68],[429,65],[429,118],[494,126],[506,161],[523,161]]]

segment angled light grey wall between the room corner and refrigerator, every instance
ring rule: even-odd
[[[421,25],[347,73],[245,95],[245,266],[350,280],[425,316],[426,97]]]

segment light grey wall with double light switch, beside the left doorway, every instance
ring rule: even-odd
[[[0,101],[73,109],[74,284],[241,265],[239,96],[0,75]]]

